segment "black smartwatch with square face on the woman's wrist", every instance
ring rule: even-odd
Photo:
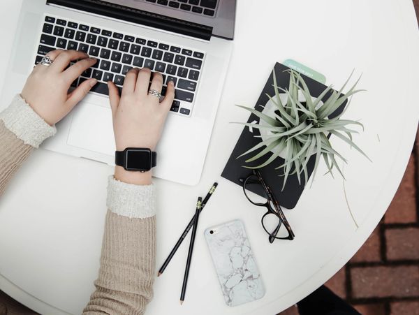
[[[145,147],[127,147],[115,152],[115,164],[124,170],[148,172],[156,166],[157,153]]]

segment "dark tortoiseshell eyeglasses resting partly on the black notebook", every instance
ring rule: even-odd
[[[270,186],[267,186],[260,172],[253,170],[252,174],[247,178],[240,178],[240,182],[243,184],[243,192],[247,200],[253,203],[253,205],[267,208],[267,212],[263,214],[261,223],[263,229],[269,235],[269,242],[272,243],[275,239],[293,240],[295,237],[293,230],[290,224],[288,224],[277,198],[272,193],[272,189],[270,189]],[[255,190],[263,191],[263,196],[250,193],[250,191]]]

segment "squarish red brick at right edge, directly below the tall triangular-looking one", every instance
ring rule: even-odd
[[[385,230],[388,260],[419,259],[419,228]]]

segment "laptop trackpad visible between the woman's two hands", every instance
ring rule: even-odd
[[[103,154],[115,154],[110,108],[80,103],[73,110],[67,144]]]

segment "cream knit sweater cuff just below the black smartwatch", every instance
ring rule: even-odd
[[[145,219],[156,214],[156,189],[154,184],[134,185],[115,180],[108,181],[108,200],[111,212],[129,218]]]

